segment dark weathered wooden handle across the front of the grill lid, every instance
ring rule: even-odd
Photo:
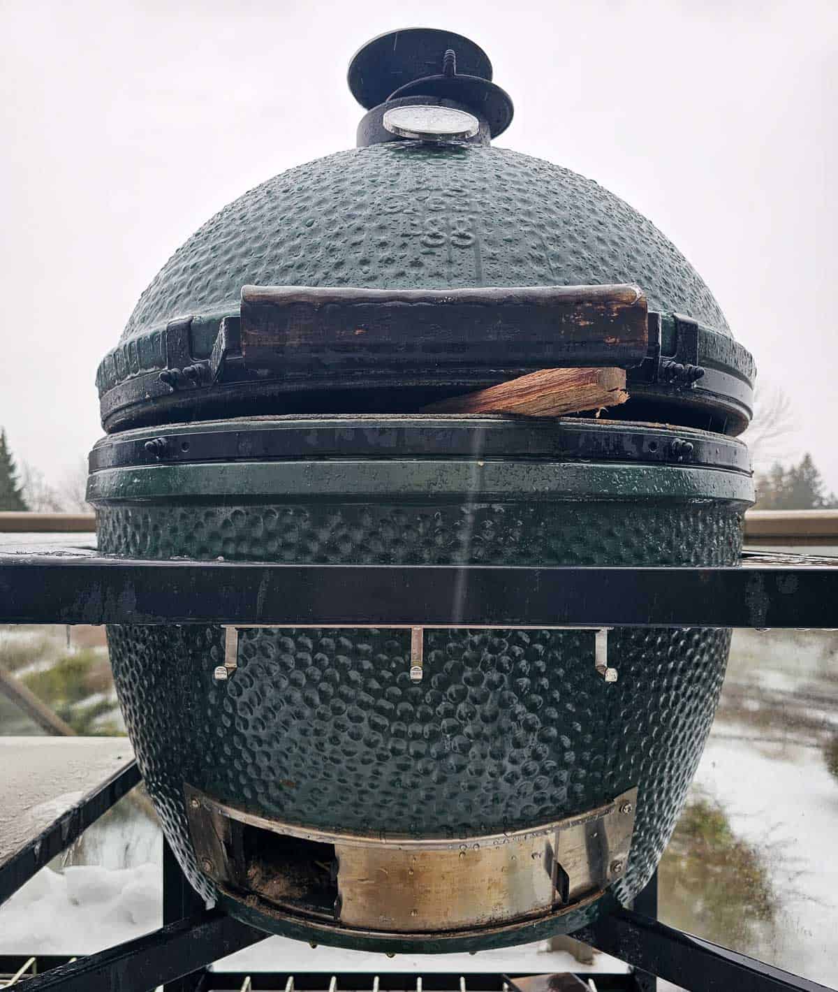
[[[245,286],[241,353],[251,369],[497,361],[546,368],[631,368],[647,356],[647,301],[637,286],[366,290]]]

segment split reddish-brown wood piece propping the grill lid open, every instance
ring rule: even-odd
[[[539,369],[476,393],[431,403],[421,412],[561,417],[616,407],[628,399],[624,369]]]

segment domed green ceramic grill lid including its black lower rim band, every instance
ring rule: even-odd
[[[446,78],[445,59],[457,45],[456,71],[470,69],[472,79],[481,72],[492,85],[491,63],[473,43],[425,29],[403,34],[404,70],[391,58],[372,79],[381,39],[353,60],[350,81],[364,105],[394,80],[426,72],[422,53],[434,51],[437,34],[446,48],[439,70],[425,76],[434,86]],[[408,78],[395,89],[412,86]],[[411,101],[437,99],[436,90],[421,89]],[[439,100],[468,111],[465,93],[459,102]],[[388,95],[376,109],[391,105]],[[486,126],[482,110],[471,110]],[[483,353],[472,341],[457,359],[456,326],[443,328],[444,353],[434,352],[417,345],[406,321],[394,326],[389,341],[391,352],[401,352],[398,362],[387,349],[365,351],[357,339],[353,351],[321,337],[307,357],[305,341],[296,341],[293,364],[250,367],[235,350],[247,286],[479,294],[627,284],[643,291],[651,316],[646,358],[613,362],[629,367],[631,399],[619,416],[729,434],[744,429],[753,359],[733,340],[704,282],[651,221],[593,181],[508,149],[389,139],[268,180],[180,247],[99,367],[107,431],[248,414],[410,412],[443,396],[572,363],[558,344],[553,348],[548,330],[534,335],[508,319],[507,353],[497,347]],[[494,313],[484,310],[489,325]],[[609,364],[602,355],[596,363]]]

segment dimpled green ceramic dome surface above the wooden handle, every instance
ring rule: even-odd
[[[503,148],[393,142],[283,173],[199,228],[122,340],[238,312],[242,286],[439,288],[637,283],[652,310],[729,333],[710,291],[627,203]]]

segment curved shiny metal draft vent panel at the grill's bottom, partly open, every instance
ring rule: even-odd
[[[192,842],[222,891],[333,926],[480,930],[570,912],[620,878],[637,789],[564,819],[457,837],[332,833],[184,787]]]

